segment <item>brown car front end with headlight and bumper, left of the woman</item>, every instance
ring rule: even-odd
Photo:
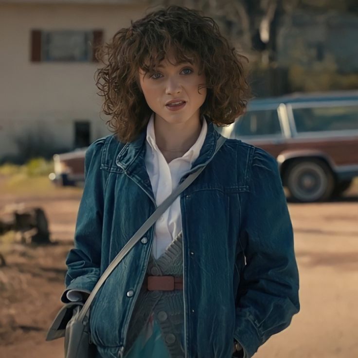
[[[54,155],[54,173],[49,175],[51,181],[59,186],[81,186],[85,181],[86,148]]]

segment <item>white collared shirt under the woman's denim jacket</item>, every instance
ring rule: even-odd
[[[145,166],[152,184],[153,194],[160,205],[178,186],[181,177],[188,172],[199,156],[204,143],[208,125],[202,118],[202,126],[196,143],[182,156],[167,163],[159,150],[154,131],[154,112],[148,125],[146,136]],[[155,223],[152,253],[155,258],[161,256],[167,246],[181,232],[180,196]]]

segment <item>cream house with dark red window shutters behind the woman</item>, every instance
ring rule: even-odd
[[[110,133],[93,45],[147,8],[144,0],[0,0],[0,163],[51,157]]]

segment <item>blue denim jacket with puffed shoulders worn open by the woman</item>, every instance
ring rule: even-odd
[[[191,171],[207,167],[180,195],[187,358],[232,357],[233,339],[245,358],[252,357],[300,309],[292,225],[276,160],[231,139],[213,157],[219,136],[209,123]],[[144,141],[145,131],[126,144],[109,135],[88,148],[66,291],[90,291],[155,211]],[[91,338],[102,357],[123,354],[153,234],[154,226],[92,303]]]

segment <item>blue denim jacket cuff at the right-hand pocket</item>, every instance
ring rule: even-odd
[[[236,328],[233,338],[237,340],[243,348],[243,358],[251,358],[262,344],[256,327],[249,319],[236,319]]]

